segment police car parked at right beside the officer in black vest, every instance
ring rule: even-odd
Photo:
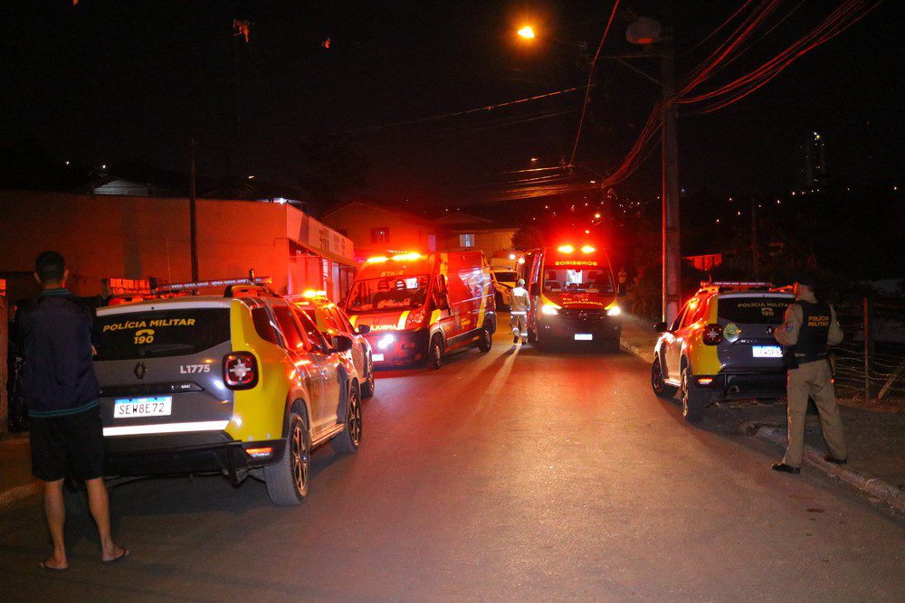
[[[662,398],[681,397],[695,422],[720,400],[780,398],[786,363],[774,329],[795,297],[770,283],[701,283],[671,325],[659,323],[651,384]]]

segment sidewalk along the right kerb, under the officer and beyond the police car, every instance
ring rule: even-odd
[[[653,331],[653,321],[650,323],[624,315],[622,347],[647,363],[653,362],[653,346],[659,336]],[[805,427],[805,464],[905,511],[905,406],[860,400],[839,400],[839,404],[849,463],[835,466],[824,462],[826,447],[820,420],[809,415]],[[722,402],[710,407],[705,417],[714,420],[721,430],[746,433],[776,444],[776,460],[782,457],[786,447],[784,403]]]

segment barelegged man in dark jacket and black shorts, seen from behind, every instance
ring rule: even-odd
[[[98,380],[91,362],[94,315],[66,290],[69,270],[62,256],[44,251],[34,262],[41,295],[20,308],[15,332],[24,355],[23,400],[32,442],[32,473],[44,482],[44,512],[53,552],[40,565],[69,567],[63,542],[66,505],[62,484],[67,474],[88,486],[88,503],[97,523],[101,559],[118,561],[129,554],[110,534],[110,499],[102,476],[103,426]]]

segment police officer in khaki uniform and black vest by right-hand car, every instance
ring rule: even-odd
[[[788,446],[786,456],[773,469],[792,474],[801,472],[808,396],[817,406],[824,441],[830,451],[824,459],[843,465],[848,452],[827,358],[828,347],[842,342],[843,331],[833,306],[817,301],[814,296],[813,276],[803,275],[795,280],[795,303],[786,310],[786,320],[777,326],[774,336],[785,346],[790,366],[786,382]]]

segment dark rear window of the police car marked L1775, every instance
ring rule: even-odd
[[[230,340],[229,308],[149,310],[98,316],[97,360],[199,353]]]

